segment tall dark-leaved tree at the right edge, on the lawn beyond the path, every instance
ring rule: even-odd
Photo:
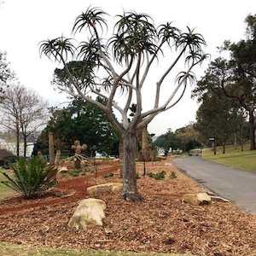
[[[224,42],[222,50],[230,53],[230,59],[212,61],[205,76],[197,84],[195,94],[213,91],[226,102],[236,102],[248,113],[250,125],[250,149],[255,147],[256,108],[256,15],[248,15],[247,39],[237,44]]]

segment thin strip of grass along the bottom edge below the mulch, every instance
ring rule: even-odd
[[[96,250],[71,250],[71,249],[55,249],[47,247],[32,247],[20,246],[5,242],[0,242],[0,255],[9,256],[56,256],[56,255],[70,255],[70,256],[189,256],[189,254],[175,254],[175,253],[120,253],[120,252],[107,252]],[[192,256],[190,254],[190,256]]]

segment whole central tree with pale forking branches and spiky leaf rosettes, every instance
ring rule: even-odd
[[[74,35],[88,32],[87,42],[76,47],[73,44],[76,41],[71,38],[48,39],[41,42],[40,52],[63,65],[62,69],[55,70],[54,83],[58,88],[102,109],[119,131],[124,145],[123,198],[140,201],[142,196],[137,191],[136,179],[137,132],[182,98],[188,80],[195,78],[193,67],[206,58],[201,50],[205,40],[189,27],[187,32],[181,32],[170,22],[154,26],[148,15],[136,12],[118,15],[112,37],[104,39],[101,35],[107,27],[105,15],[101,9],[92,8],[75,20]],[[169,51],[167,55],[172,54],[172,58],[156,73],[156,64],[165,51]],[[69,56],[73,61],[69,61]],[[186,70],[177,74],[176,84],[163,90],[163,84],[179,61],[187,64]],[[157,77],[154,82],[148,79],[149,73]],[[147,92],[152,90],[155,91],[152,106],[145,109]],[[120,91],[126,92],[122,98]],[[107,103],[96,102],[96,96],[103,97]],[[131,117],[132,104],[136,105],[136,111]]]

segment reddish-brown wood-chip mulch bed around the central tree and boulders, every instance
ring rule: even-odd
[[[172,160],[147,163],[147,172],[166,172],[164,180],[143,177],[137,163],[141,203],[119,194],[98,195],[107,203],[102,227],[71,230],[67,223],[86,188],[96,183],[121,182],[119,162],[98,166],[98,176],[59,176],[55,189],[42,198],[21,196],[0,201],[0,241],[47,247],[94,248],[115,251],[192,253],[195,255],[256,255],[256,216],[231,203],[190,206],[186,193],[206,191],[179,172]],[[103,177],[113,172],[113,177]],[[177,178],[171,178],[175,172]],[[173,174],[173,173],[172,173]]]

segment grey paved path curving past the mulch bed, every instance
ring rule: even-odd
[[[177,157],[177,168],[249,212],[256,214],[256,173],[202,160],[199,156]]]

